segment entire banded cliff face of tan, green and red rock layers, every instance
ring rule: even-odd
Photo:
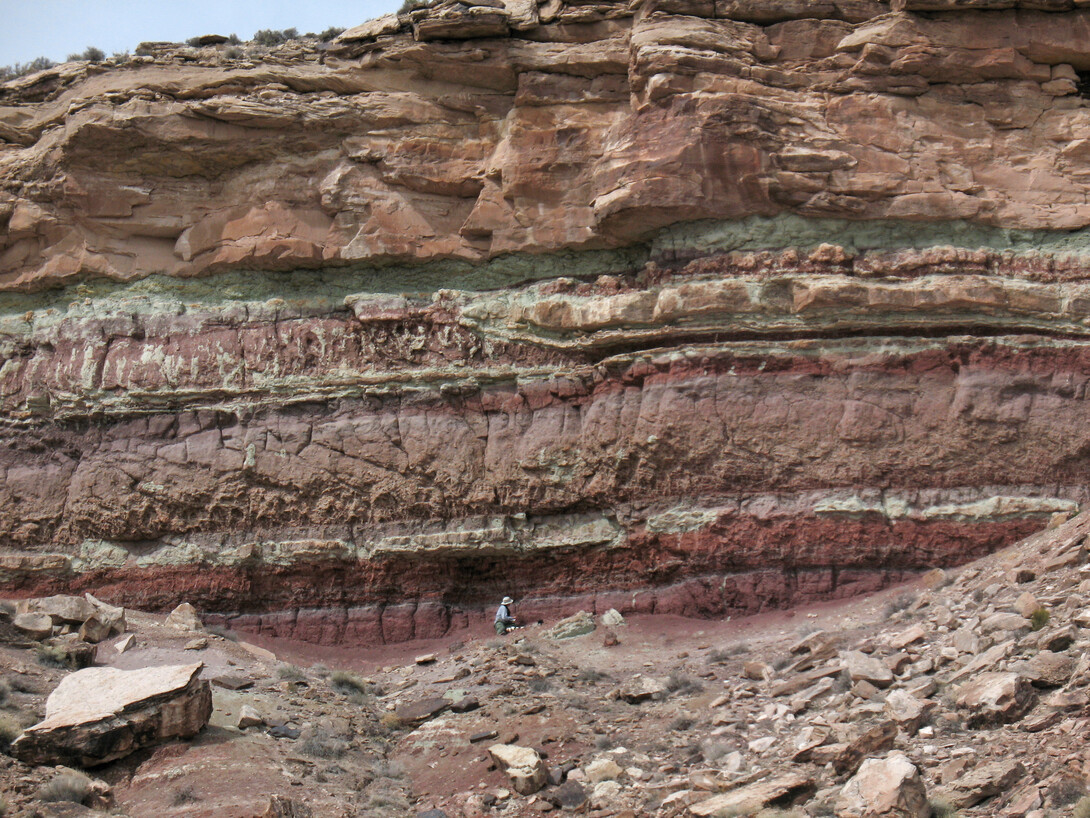
[[[0,85],[3,587],[391,641],[1074,510],[1082,5],[444,2]]]

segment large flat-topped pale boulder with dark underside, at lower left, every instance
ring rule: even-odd
[[[120,671],[87,667],[65,676],[46,718],[11,745],[26,763],[93,767],[196,734],[211,715],[203,663]]]

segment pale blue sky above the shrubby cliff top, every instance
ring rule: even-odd
[[[0,0],[0,65],[48,57],[62,62],[87,46],[135,51],[145,40],[259,28],[349,28],[395,11],[400,0]]]

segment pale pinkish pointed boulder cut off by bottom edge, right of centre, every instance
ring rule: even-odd
[[[844,785],[836,802],[839,818],[930,818],[920,771],[907,756],[868,758]]]

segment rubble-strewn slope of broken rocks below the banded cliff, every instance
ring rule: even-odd
[[[583,613],[372,649],[23,600],[5,815],[1083,816],[1088,534],[1056,518],[958,570],[732,622]]]

